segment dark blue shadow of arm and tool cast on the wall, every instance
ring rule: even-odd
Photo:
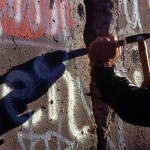
[[[61,50],[47,53],[16,66],[1,76],[0,135],[22,125],[34,114],[35,110],[27,112],[27,104],[44,95],[63,75],[64,61],[85,54],[85,49],[69,53]],[[0,140],[0,145],[3,143]]]

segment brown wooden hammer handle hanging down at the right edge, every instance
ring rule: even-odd
[[[150,77],[150,67],[149,67],[147,46],[144,41],[139,41],[138,47],[139,47],[139,54],[142,63],[143,77],[144,77],[144,81],[146,81]]]

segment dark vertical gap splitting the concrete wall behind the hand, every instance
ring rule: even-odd
[[[111,9],[113,4],[110,0],[85,0],[86,7],[86,25],[84,31],[84,41],[88,47],[98,36],[104,36],[109,33],[110,23],[112,19]],[[91,80],[91,93],[100,95],[96,89],[94,79]],[[97,124],[98,150],[105,150],[107,141],[105,137],[105,128],[108,116],[108,106],[101,99],[93,98],[93,112]]]

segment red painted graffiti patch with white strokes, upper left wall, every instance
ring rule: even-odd
[[[73,28],[68,0],[4,0],[0,5],[0,34],[37,38],[69,33]]]

